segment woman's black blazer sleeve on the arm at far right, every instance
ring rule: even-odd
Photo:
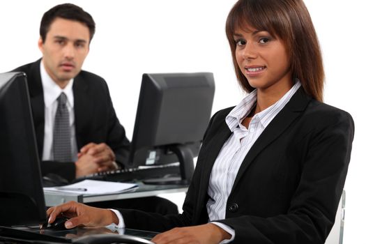
[[[287,213],[270,218],[241,215],[220,220],[235,229],[233,243],[326,241],[346,179],[354,124],[346,112],[338,113],[337,119],[321,116],[322,126],[310,131],[298,145],[307,145],[307,153]]]

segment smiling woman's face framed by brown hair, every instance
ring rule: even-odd
[[[284,93],[291,89],[289,55],[284,43],[267,31],[236,30],[236,62],[258,92]]]

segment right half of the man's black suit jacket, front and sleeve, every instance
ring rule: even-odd
[[[78,148],[105,143],[114,151],[116,162],[127,165],[130,141],[117,119],[105,79],[82,71],[75,77],[73,92]]]

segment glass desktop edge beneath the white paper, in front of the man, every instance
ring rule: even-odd
[[[165,193],[186,192],[188,186],[186,185],[146,185],[144,183],[137,183],[139,188],[130,192],[109,193],[105,195],[88,195],[81,192],[49,192],[45,193],[46,206],[56,206],[64,204],[67,201],[77,201],[81,203],[89,203],[95,201],[110,201],[118,199],[128,199],[137,197],[151,197]]]

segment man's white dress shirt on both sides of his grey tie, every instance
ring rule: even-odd
[[[71,133],[71,153],[73,161],[77,160],[77,144],[75,138],[75,113],[74,113],[74,94],[73,83],[74,79],[64,89],[61,89],[51,77],[49,77],[43,61],[40,62],[40,79],[42,80],[43,98],[45,100],[45,136],[43,137],[43,155],[42,160],[53,160],[54,153],[52,150],[52,142],[54,137],[54,116],[57,110],[57,98],[63,92],[68,98],[67,107],[70,116],[70,133]]]

